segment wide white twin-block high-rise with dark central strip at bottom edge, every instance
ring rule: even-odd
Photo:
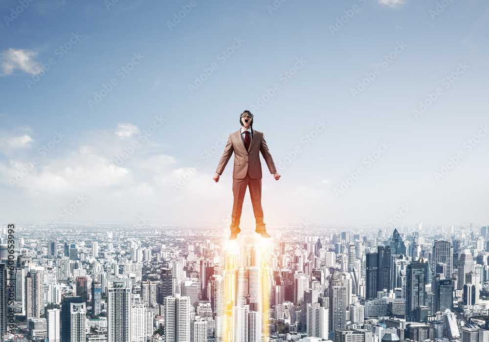
[[[165,324],[163,326],[164,342],[190,341],[190,298],[175,295],[165,297]]]

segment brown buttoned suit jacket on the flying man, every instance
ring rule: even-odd
[[[249,173],[250,178],[262,178],[262,163],[260,162],[259,152],[262,152],[262,156],[267,163],[270,173],[277,172],[262,132],[253,130],[253,139],[251,139],[249,151],[246,151],[244,148],[243,139],[241,138],[241,129],[229,134],[229,139],[227,140],[224,153],[222,153],[216,173],[222,174],[222,171],[224,171],[233,152],[233,178],[235,179],[243,179],[246,176],[246,172]]]

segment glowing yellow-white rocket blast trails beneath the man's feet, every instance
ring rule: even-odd
[[[222,341],[268,341],[274,243],[254,232],[223,242]]]

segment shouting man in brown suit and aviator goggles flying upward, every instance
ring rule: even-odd
[[[263,223],[262,164],[260,162],[260,152],[262,152],[262,156],[267,163],[268,170],[273,174],[273,177],[276,180],[279,180],[280,174],[278,174],[277,169],[275,168],[263,133],[253,130],[253,114],[251,114],[249,110],[245,110],[240,115],[240,124],[242,126],[240,130],[229,134],[226,148],[224,149],[224,153],[222,153],[221,160],[219,161],[213,179],[216,183],[219,182],[219,177],[234,152],[234,203],[233,212],[231,214],[231,236],[229,236],[229,239],[234,240],[241,232],[239,226],[246,187],[249,188],[253,213],[255,214],[255,232],[263,237],[270,237],[265,229],[265,223]]]

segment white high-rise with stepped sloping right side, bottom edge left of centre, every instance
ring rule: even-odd
[[[147,342],[153,335],[153,312],[139,295],[131,299],[131,341]]]

